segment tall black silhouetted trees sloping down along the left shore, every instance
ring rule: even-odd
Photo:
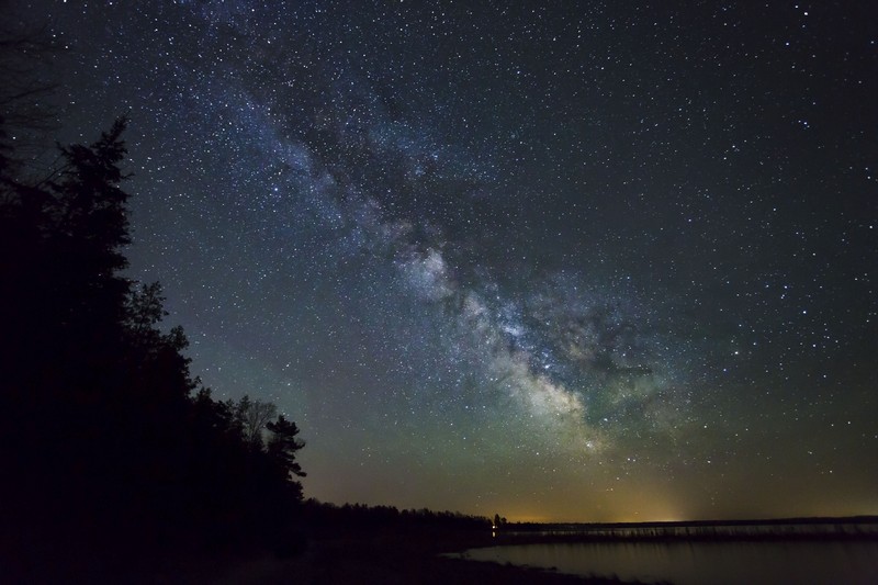
[[[11,559],[89,543],[282,540],[302,499],[296,425],[248,396],[214,400],[190,373],[183,330],[160,326],[161,286],[122,273],[126,124],[59,147],[34,178],[0,119],[0,521]]]

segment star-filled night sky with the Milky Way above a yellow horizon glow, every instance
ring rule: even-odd
[[[878,514],[870,1],[5,3],[63,142],[130,113],[131,275],[306,496]]]

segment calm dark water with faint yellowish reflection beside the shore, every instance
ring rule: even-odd
[[[679,585],[878,583],[878,542],[510,544],[472,549],[462,556]]]

